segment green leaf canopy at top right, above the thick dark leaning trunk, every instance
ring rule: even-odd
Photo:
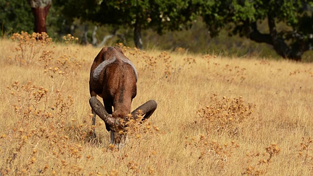
[[[276,22],[286,22],[287,25],[298,26],[303,16],[303,0],[198,0],[201,16],[204,22],[212,25],[213,31],[219,31],[225,24],[233,22],[242,25],[243,22],[264,20],[274,17]],[[304,3],[312,0],[305,0]],[[307,14],[308,15],[308,14]]]

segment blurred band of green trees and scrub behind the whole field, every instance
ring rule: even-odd
[[[51,1],[51,0],[50,0]],[[47,33],[227,56],[312,60],[313,0],[53,0]],[[34,31],[29,1],[0,0],[2,36]]]

